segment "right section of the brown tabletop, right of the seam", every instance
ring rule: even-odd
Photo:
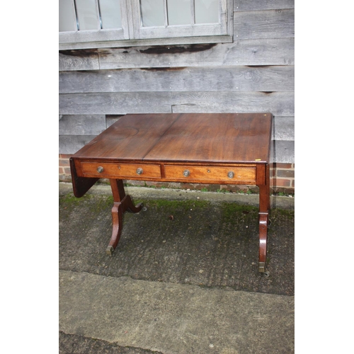
[[[271,118],[270,113],[183,114],[144,160],[265,162]]]

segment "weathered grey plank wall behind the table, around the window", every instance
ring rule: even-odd
[[[234,42],[59,52],[59,154],[126,113],[271,112],[294,163],[294,0],[234,0]]]

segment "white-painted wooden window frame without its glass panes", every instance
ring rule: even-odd
[[[164,0],[166,1],[166,0]],[[59,50],[232,42],[233,0],[219,0],[219,23],[143,27],[139,0],[121,0],[122,28],[59,32]],[[75,11],[74,1],[72,6]],[[98,13],[98,0],[96,0]],[[76,26],[76,18],[73,18]]]

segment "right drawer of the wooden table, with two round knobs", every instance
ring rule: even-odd
[[[218,167],[218,166],[165,166],[168,179],[198,181],[225,181],[227,183],[256,183],[256,167]]]

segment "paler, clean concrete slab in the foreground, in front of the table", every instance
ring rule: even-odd
[[[181,353],[294,353],[294,297],[59,271],[64,333]]]

